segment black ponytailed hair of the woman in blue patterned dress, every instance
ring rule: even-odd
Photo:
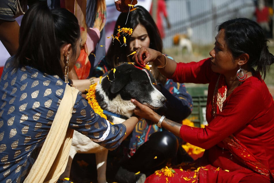
[[[22,18],[19,48],[12,66],[31,66],[63,78],[60,49],[70,43],[75,57],[79,38],[80,29],[74,14],[63,8],[50,10],[45,4],[36,3]]]

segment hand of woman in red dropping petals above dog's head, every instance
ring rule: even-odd
[[[145,46],[138,48],[136,52],[137,53],[134,54],[133,60],[141,66],[145,66],[150,61],[153,61],[156,65],[160,66],[165,61],[161,61],[161,57],[163,57],[161,52]]]

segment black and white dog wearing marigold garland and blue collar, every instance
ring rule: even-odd
[[[104,110],[107,119],[114,124],[122,123],[133,115],[135,98],[152,109],[163,106],[167,100],[154,86],[156,81],[145,68],[124,63],[111,70],[96,86],[96,100]],[[106,183],[106,162],[108,150],[91,141],[80,132],[74,131],[69,161],[61,178],[69,177],[71,163],[76,153],[95,153],[97,181]]]

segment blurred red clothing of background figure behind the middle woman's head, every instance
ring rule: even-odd
[[[150,8],[150,14],[152,15],[153,12],[152,12],[152,5],[151,5],[151,8]],[[166,7],[166,3],[164,0],[158,0],[158,6],[157,6],[157,19],[156,19],[156,25],[159,29],[159,33],[160,33],[160,36],[161,38],[164,38],[165,37],[165,29],[162,25],[162,16],[161,14],[163,14],[164,17],[167,17],[167,7]]]

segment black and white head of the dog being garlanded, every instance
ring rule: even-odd
[[[124,63],[112,69],[96,87],[96,99],[102,109],[126,115],[132,114],[135,98],[152,109],[163,106],[166,98],[156,89],[156,80],[150,71],[134,64]]]

